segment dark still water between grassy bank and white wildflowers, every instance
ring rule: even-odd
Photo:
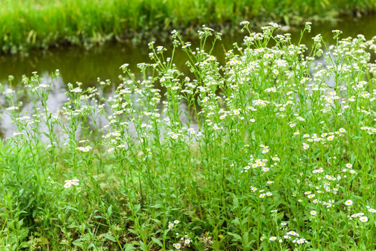
[[[302,24],[304,22],[302,21]],[[321,33],[328,43],[333,43],[332,30],[340,29],[343,31],[342,38],[348,36],[355,37],[357,34],[363,34],[366,39],[376,36],[376,15],[362,17],[361,19],[346,18],[339,22],[325,22],[313,24],[311,33],[306,34],[302,43],[310,45],[313,36]],[[292,40],[298,41],[300,31],[303,26],[295,29],[283,31],[283,33],[291,33]],[[246,33],[239,33],[235,35],[223,34],[223,40],[219,41],[213,54],[217,56],[220,61],[224,60],[223,47],[226,50],[232,49],[234,42],[239,43],[243,40]],[[190,40],[193,47],[199,43],[196,39]],[[149,49],[145,41],[141,45],[133,46],[130,44],[121,43],[107,43],[101,47],[95,47],[91,50],[84,50],[80,47],[61,47],[52,50],[41,51],[34,50],[29,53],[29,56],[22,55],[3,55],[0,56],[0,83],[3,85],[8,84],[8,75],[13,75],[13,89],[22,89],[20,84],[22,75],[30,76],[33,71],[37,71],[38,75],[42,77],[42,84],[50,83],[50,74],[54,70],[59,69],[60,77],[54,79],[53,89],[50,93],[50,109],[54,111],[63,105],[66,100],[65,91],[66,84],[69,82],[82,82],[83,87],[96,86],[98,84],[97,78],[110,79],[114,84],[118,84],[118,76],[122,73],[119,67],[123,63],[129,63],[130,69],[137,73],[137,63],[151,62],[149,59]],[[163,45],[167,49],[171,48],[171,42],[158,43],[156,45]],[[223,45],[223,46],[222,46]],[[183,52],[178,52],[175,56],[176,66],[183,70],[187,61]],[[108,89],[112,91],[112,89]],[[163,94],[163,93],[162,93]],[[0,96],[0,105],[4,105],[3,97]],[[27,109],[27,100],[24,100],[24,109]],[[7,116],[3,116],[0,121],[0,137],[8,137],[13,133],[13,126]]]

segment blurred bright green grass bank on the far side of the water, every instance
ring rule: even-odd
[[[15,53],[63,43],[92,45],[116,38],[160,34],[170,27],[253,22],[332,20],[343,13],[372,11],[375,0],[0,0],[0,48]]]

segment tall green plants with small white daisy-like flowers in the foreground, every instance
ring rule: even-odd
[[[10,76],[0,249],[372,250],[376,40],[336,30],[324,52],[322,36],[308,48],[278,27],[248,30],[224,65],[206,46],[220,33],[204,27],[195,49],[172,31],[140,77],[121,66],[112,96],[100,79],[68,84],[57,111],[37,73],[17,93]]]

